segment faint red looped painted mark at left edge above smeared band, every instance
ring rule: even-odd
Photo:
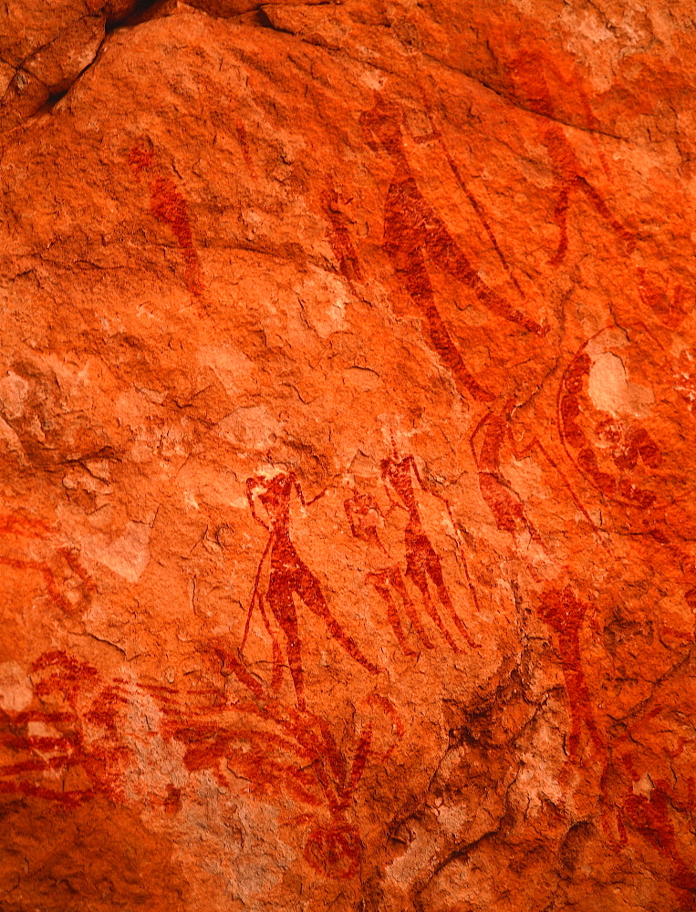
[[[67,615],[77,614],[88,607],[96,586],[78,552],[54,544],[55,535],[40,520],[19,513],[0,516],[0,565],[41,575],[53,604]]]

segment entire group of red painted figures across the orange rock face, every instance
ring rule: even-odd
[[[543,77],[536,70],[527,69],[521,58],[516,71],[523,76],[526,74],[527,80],[535,83],[536,97],[549,108],[551,118],[553,106]],[[688,606],[696,608],[696,562],[664,518],[667,495],[661,490],[660,480],[664,453],[659,440],[655,439],[656,432],[634,418],[602,414],[590,396],[590,378],[597,359],[611,354],[614,347],[629,346],[635,339],[631,339],[627,331],[621,331],[617,336],[616,327],[608,327],[599,330],[575,354],[566,358],[557,394],[557,431],[562,444],[561,459],[566,460],[566,466],[562,466],[558,455],[537,436],[520,447],[511,425],[516,409],[514,397],[496,393],[490,383],[474,376],[465,363],[437,306],[429,268],[434,266],[467,286],[494,319],[513,326],[516,332],[541,338],[545,337],[547,327],[527,316],[522,304],[515,306],[483,281],[471,258],[426,201],[410,166],[400,106],[378,93],[374,107],[362,115],[360,123],[371,148],[386,152],[393,165],[384,207],[385,253],[410,300],[418,308],[424,338],[439,358],[441,367],[452,377],[462,399],[473,401],[473,405],[481,409],[473,420],[471,451],[479,491],[493,518],[496,533],[509,536],[518,550],[534,546],[542,557],[550,562],[554,560],[543,531],[537,528],[525,499],[515,491],[514,483],[505,472],[507,450],[515,462],[531,457],[540,460],[546,468],[550,467],[557,482],[556,489],[567,493],[582,522],[586,523],[586,534],[601,537],[598,521],[593,518],[592,504],[586,503],[587,498],[577,496],[569,480],[569,473],[577,472],[586,489],[597,492],[601,503],[608,503],[630,517],[632,534],[644,536],[679,566],[684,581],[683,599]],[[430,138],[441,142],[441,135],[434,128],[431,137],[425,139]],[[587,198],[598,216],[616,234],[618,243],[625,245],[630,253],[636,245],[634,234],[609,212],[607,204],[583,173],[562,128],[553,119],[548,121],[543,140],[556,176],[554,219],[559,241],[556,252],[550,257],[551,264],[560,264],[566,255],[566,220],[572,193],[581,193]],[[462,183],[462,189],[504,264],[511,285],[522,298],[483,209],[461,181],[449,152],[447,155],[452,171]],[[245,157],[248,158],[247,152]],[[192,295],[203,295],[203,273],[181,193],[164,176],[151,151],[140,147],[133,150],[130,166],[139,180],[146,175],[150,177],[151,212],[171,228],[181,245],[186,281]],[[338,270],[354,287],[362,281],[363,270],[333,185],[325,192],[323,209]],[[674,292],[673,300],[665,295],[666,292],[650,284],[644,273],[640,275],[643,305],[663,326],[674,329],[687,316],[685,296],[679,289]],[[641,324],[636,334],[636,338],[645,338],[649,331]],[[450,504],[423,482],[414,456],[400,454],[396,448],[392,448],[381,462],[381,481],[390,501],[390,512],[398,511],[405,519],[400,555],[391,554],[385,536],[380,535],[384,517],[371,493],[353,488],[343,507],[351,534],[379,556],[375,561],[377,568],[369,571],[366,581],[386,612],[399,648],[407,656],[416,655],[421,648],[434,649],[438,634],[452,652],[478,648],[480,644],[474,640],[454,604],[441,558],[427,533],[419,507],[419,489],[439,498],[449,514],[466,580],[462,590],[467,592],[467,601],[475,612],[479,609],[475,574],[470,572],[461,531],[452,516]],[[296,472],[286,467],[257,474],[246,482],[252,516],[267,532],[265,550],[257,566],[240,642],[220,641],[209,644],[208,649],[222,663],[223,674],[234,675],[243,685],[244,700],[231,703],[224,689],[183,692],[173,687],[134,684],[125,679],[104,682],[99,679],[97,670],[87,663],[64,653],[46,653],[36,660],[33,668],[40,679],[36,699],[60,693],[61,707],[49,711],[32,704],[29,709],[11,713],[11,726],[5,727],[0,746],[19,759],[0,764],[0,792],[55,798],[65,803],[86,800],[99,790],[118,797],[119,782],[128,767],[131,751],[119,736],[119,712],[130,703],[153,700],[161,711],[162,736],[183,745],[184,762],[189,772],[211,770],[218,782],[227,787],[230,782],[224,772],[224,760],[228,768],[248,779],[252,793],[289,797],[308,808],[309,813],[296,816],[295,823],[315,820],[312,815],[321,812],[324,822],[318,824],[315,820],[306,840],[307,862],[327,876],[354,876],[360,864],[360,837],[356,827],[348,823],[348,807],[369,758],[386,762],[404,734],[404,725],[390,700],[374,695],[372,699],[379,703],[382,715],[390,720],[393,743],[378,751],[372,725],[367,723],[356,734],[351,759],[345,751],[338,749],[326,720],[315,715],[307,705],[302,606],[321,620],[330,636],[359,667],[371,675],[379,673],[378,665],[365,655],[357,639],[335,617],[316,573],[306,564],[293,541],[293,497],[308,507],[322,494],[306,500]],[[0,533],[24,535],[40,541],[47,538],[49,530],[40,523],[23,525],[22,520],[7,519]],[[88,598],[91,591],[88,575],[71,551],[58,548],[51,554],[45,559],[35,557],[31,560],[0,557],[0,563],[39,572],[55,604],[69,613],[78,611],[80,599]],[[534,576],[534,566],[530,564],[530,567]],[[72,575],[76,583],[78,596],[69,604],[57,584],[61,573]],[[535,580],[539,582],[536,577]],[[587,756],[606,762],[608,745],[592,708],[581,655],[581,632],[589,605],[559,572],[555,582],[545,586],[544,595],[535,607],[537,617],[554,632],[565,677],[570,725],[566,743],[568,757],[570,761],[580,757],[585,734]],[[272,649],[270,682],[262,681],[253,673],[244,658],[256,615],[261,619],[262,630]],[[296,706],[293,707],[284,707],[278,698],[286,666],[295,692]],[[88,738],[82,731],[86,726],[102,731],[103,738]],[[36,734],[39,728],[44,733]],[[628,750],[622,754],[622,762],[628,772],[639,774],[637,762]],[[65,771],[76,766],[88,776],[90,784],[86,789],[64,789],[58,793],[32,779],[41,771]],[[180,788],[170,784],[162,794],[164,806],[174,813],[180,802]],[[623,827],[624,833],[619,833],[619,841],[624,838],[628,824],[649,843],[666,845],[671,858],[673,886],[681,893],[691,893],[696,890],[696,877],[680,855],[670,822],[670,803],[673,801],[676,801],[674,787],[662,779],[653,782],[647,796],[623,795],[619,830]],[[288,823],[293,821],[288,820]]]

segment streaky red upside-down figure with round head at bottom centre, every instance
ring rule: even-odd
[[[400,724],[393,726],[390,748],[380,754],[368,722],[356,736],[351,758],[339,748],[326,720],[275,700],[234,705],[223,700],[213,710],[192,713],[171,689],[154,696],[165,716],[164,737],[184,745],[183,763],[190,772],[212,770],[224,789],[246,780],[252,795],[285,808],[283,826],[309,828],[308,865],[325,877],[358,875],[361,840],[348,812],[370,758],[389,758],[403,734]],[[383,702],[386,707],[379,700],[375,705],[399,722],[389,701]]]

